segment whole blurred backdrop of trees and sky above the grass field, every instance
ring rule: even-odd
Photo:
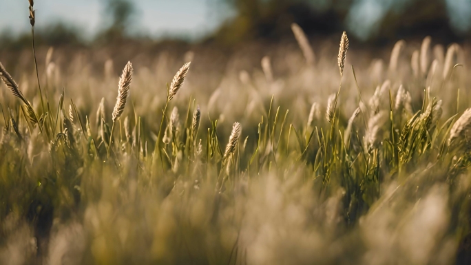
[[[465,42],[470,0],[37,0],[39,45],[106,45],[116,41],[240,45],[280,41],[298,23],[313,39],[346,30],[361,45],[398,39]],[[335,39],[338,39],[337,37]],[[0,47],[30,45],[28,1],[3,0]]]

